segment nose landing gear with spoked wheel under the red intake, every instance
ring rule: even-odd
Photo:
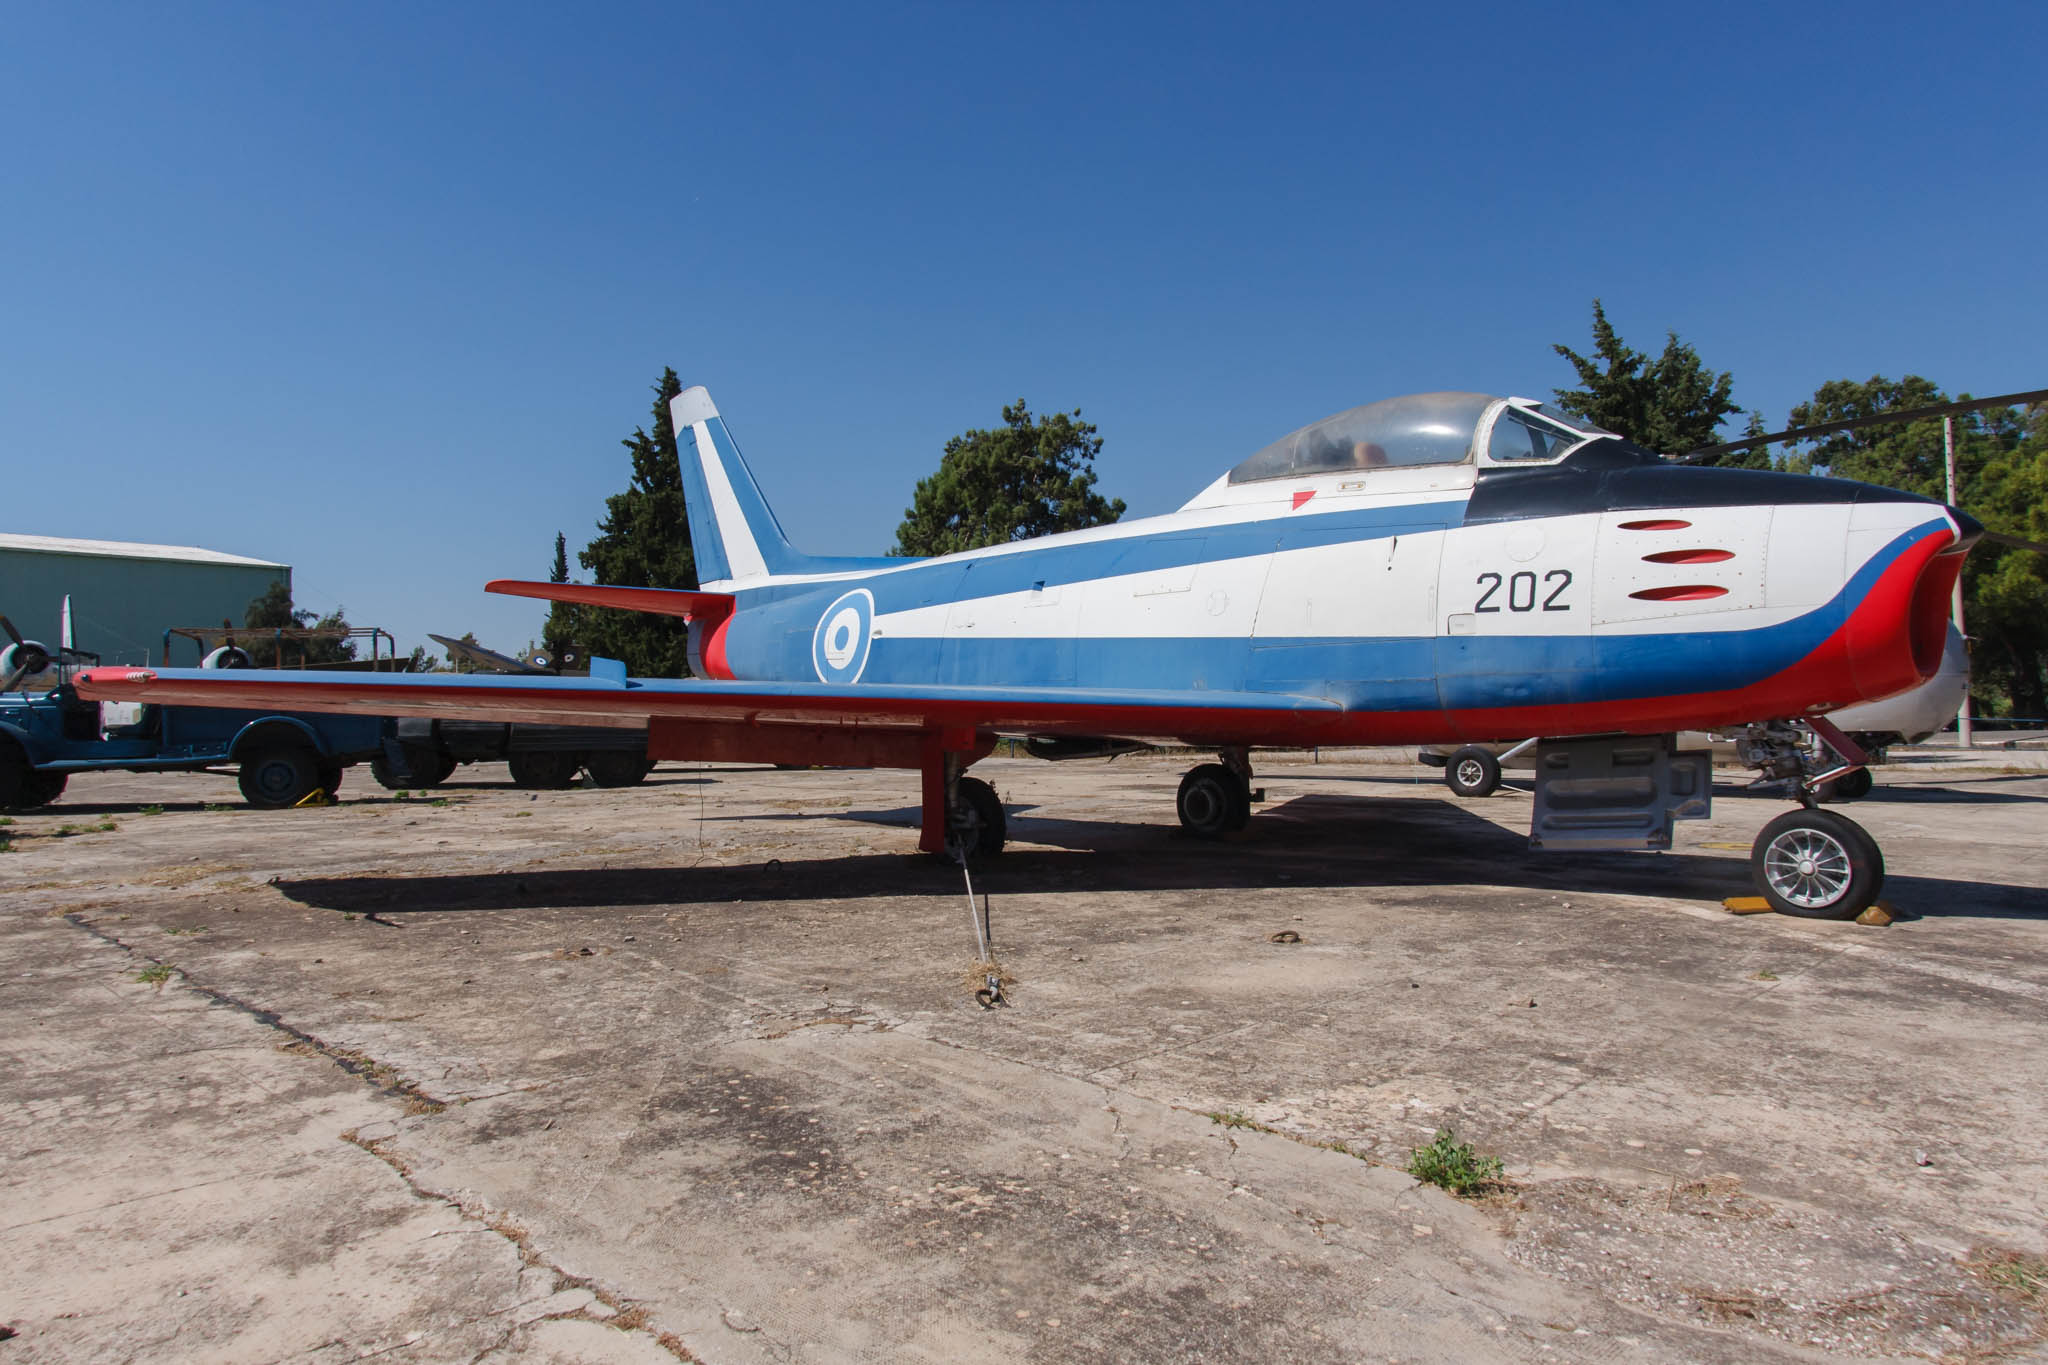
[[[1884,851],[1862,825],[1821,810],[1827,792],[1870,790],[1864,751],[1825,716],[1804,720],[1821,739],[1784,720],[1751,724],[1737,741],[1743,761],[1759,769],[1751,788],[1790,788],[1800,802],[1763,827],[1749,849],[1757,890],[1780,915],[1855,919],[1884,890]]]

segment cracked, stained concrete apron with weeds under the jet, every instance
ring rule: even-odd
[[[995,1013],[893,774],[78,784],[119,829],[0,868],[0,1191],[43,1209],[0,1361],[2034,1349],[1993,1261],[2048,1250],[2048,780],[1888,778],[1870,931],[1718,911],[1765,802],[1573,860],[1513,796],[1274,763],[1190,845],[1161,761],[979,772]],[[1440,1126],[1520,1193],[1401,1175]]]

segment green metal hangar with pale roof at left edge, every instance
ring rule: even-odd
[[[223,620],[240,626],[250,602],[279,579],[291,587],[291,565],[188,544],[0,532],[0,612],[29,639],[55,647],[70,596],[78,649],[104,663],[164,663],[164,630]]]

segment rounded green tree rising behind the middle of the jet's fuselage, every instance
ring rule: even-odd
[[[1124,499],[1096,493],[1100,452],[1081,409],[1032,417],[1018,399],[1004,407],[1004,426],[946,442],[938,473],[918,481],[891,553],[950,555],[1114,522]]]

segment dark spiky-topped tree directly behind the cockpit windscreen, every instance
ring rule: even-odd
[[[1720,420],[1741,411],[1729,395],[1735,379],[1716,375],[1700,362],[1700,352],[1665,334],[1663,354],[1651,358],[1634,350],[1614,332],[1608,311],[1593,299],[1593,354],[1581,356],[1569,346],[1552,350],[1579,372],[1581,389],[1556,389],[1565,411],[1661,454],[1686,454],[1716,444]],[[1751,420],[1751,430],[1759,430]],[[1739,450],[1714,460],[1726,465],[1767,467],[1769,456]]]

